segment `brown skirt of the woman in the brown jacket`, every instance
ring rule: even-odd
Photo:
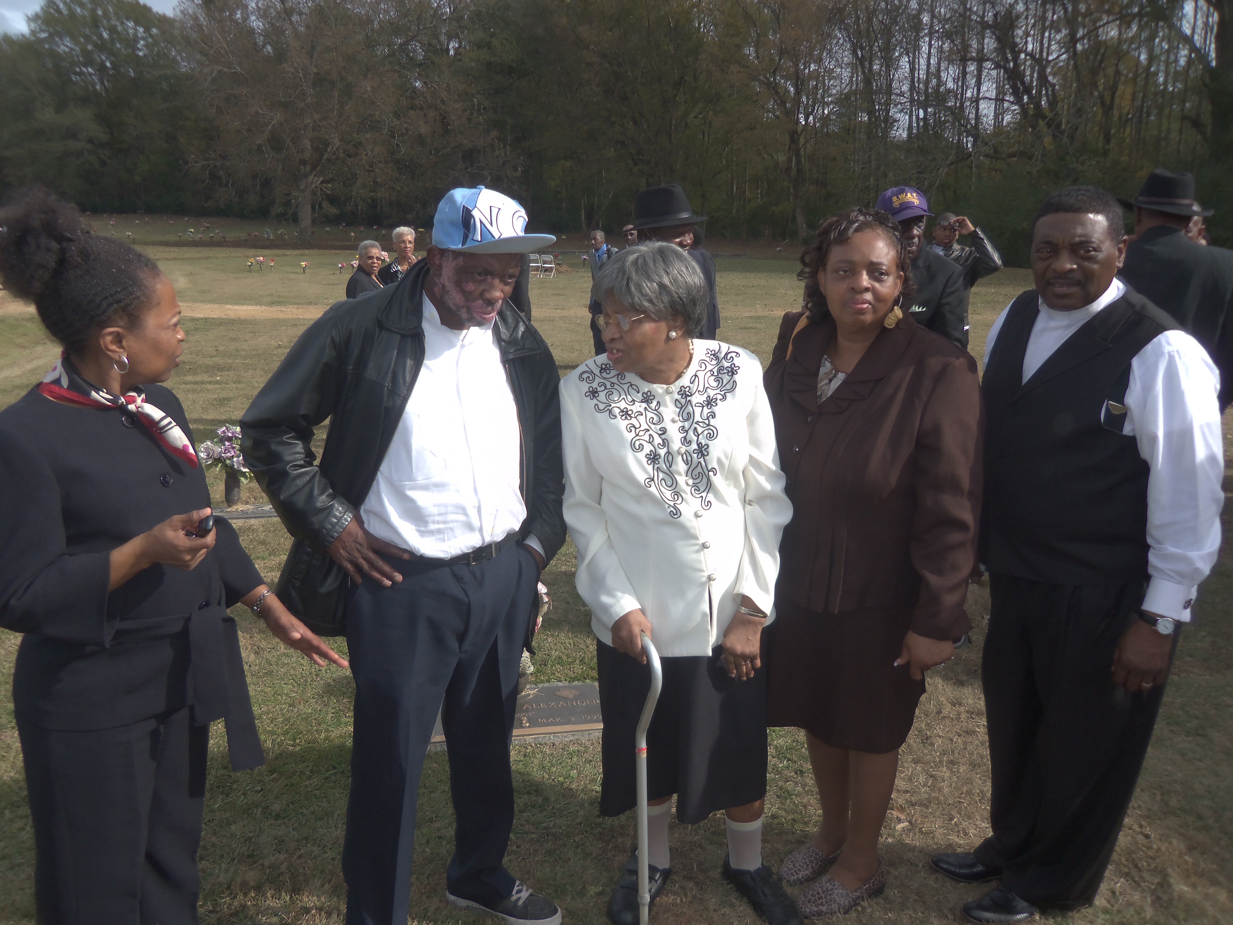
[[[764,635],[767,724],[835,749],[883,755],[907,739],[924,681],[895,667],[909,609],[817,613],[777,601]]]

